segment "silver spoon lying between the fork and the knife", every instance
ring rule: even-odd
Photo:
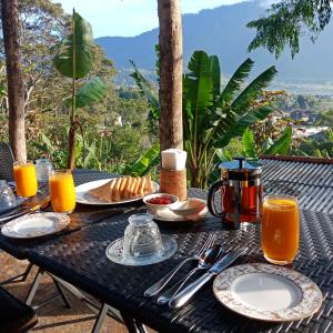
[[[201,254],[199,259],[198,266],[190,271],[190,273],[188,273],[188,275],[180,280],[175,285],[162,293],[157,303],[160,305],[167,304],[182,289],[182,286],[193,274],[195,274],[200,270],[210,269],[220,258],[222,252],[224,252],[224,250],[221,245],[214,245],[213,248],[208,249],[205,252],[203,252],[203,254]]]

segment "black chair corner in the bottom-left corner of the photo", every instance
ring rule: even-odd
[[[0,333],[27,332],[36,324],[33,309],[0,287]]]

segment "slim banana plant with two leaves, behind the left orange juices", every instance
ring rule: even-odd
[[[77,89],[78,79],[85,78],[91,70],[93,47],[90,23],[73,10],[71,32],[54,47],[56,56],[53,57],[56,69],[62,75],[72,79],[68,159],[68,168],[71,170],[75,168],[77,131],[79,129],[82,130],[75,110],[77,108],[83,108],[93,102],[101,101],[107,92],[107,85],[101,78],[93,78],[87,81],[79,90]]]

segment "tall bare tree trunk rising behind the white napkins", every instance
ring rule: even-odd
[[[180,0],[158,0],[160,21],[160,144],[183,148]]]

